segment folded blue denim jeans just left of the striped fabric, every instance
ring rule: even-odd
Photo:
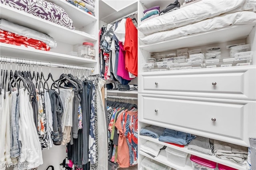
[[[194,138],[196,136],[192,134],[166,128],[158,140],[161,142],[186,145]]]

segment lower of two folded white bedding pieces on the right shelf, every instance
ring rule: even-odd
[[[238,24],[252,24],[256,23],[256,13],[250,11],[235,12],[232,14],[223,14],[208,20],[200,21],[195,24],[190,24],[175,28],[173,30],[156,32],[149,36],[143,38],[140,37],[140,40],[145,43],[155,43],[161,42],[164,40],[170,40],[172,38],[187,36],[190,34],[196,34],[200,32],[207,32],[218,28],[224,28],[230,25]]]

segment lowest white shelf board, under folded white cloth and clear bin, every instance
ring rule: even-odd
[[[189,158],[187,159],[186,165],[184,167],[178,166],[178,165],[176,165],[176,164],[174,164],[172,162],[169,162],[167,160],[167,155],[166,155],[166,151],[165,150],[160,150],[158,156],[156,156],[154,158],[152,156],[148,155],[147,153],[143,152],[143,151],[140,151],[139,153],[141,155],[143,155],[143,156],[146,156],[146,157],[152,159],[152,160],[156,160],[157,162],[160,162],[162,164],[170,166],[171,168],[174,168],[176,170],[193,170],[192,163],[191,163]]]

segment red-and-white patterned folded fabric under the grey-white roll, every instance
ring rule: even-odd
[[[50,51],[50,47],[44,42],[20,36],[4,30],[0,30],[0,42],[24,47],[32,47],[34,49],[40,49],[44,51]]]

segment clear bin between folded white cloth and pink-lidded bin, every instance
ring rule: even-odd
[[[185,153],[173,148],[169,148],[169,147],[167,147],[165,150],[167,154],[167,160],[169,162],[172,162],[182,167],[186,165],[188,153]]]

